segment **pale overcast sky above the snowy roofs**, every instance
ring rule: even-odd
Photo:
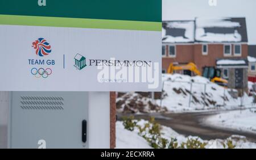
[[[256,0],[162,0],[163,20],[189,20],[197,17],[245,17],[249,44],[256,44]]]

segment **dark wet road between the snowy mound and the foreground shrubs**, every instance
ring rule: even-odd
[[[217,138],[225,139],[234,134],[246,136],[251,142],[256,142],[256,134],[241,132],[238,130],[214,128],[201,123],[201,121],[210,115],[216,115],[218,111],[214,112],[197,112],[197,113],[154,113],[154,114],[143,114],[134,115],[135,119],[150,119],[151,116],[155,117],[156,122],[159,124],[171,127],[177,133],[183,134],[184,136],[199,136],[204,140],[214,140]],[[118,114],[118,120],[122,116]]]

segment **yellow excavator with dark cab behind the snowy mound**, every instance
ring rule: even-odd
[[[167,73],[173,74],[176,70],[189,70],[196,75],[201,75],[201,72],[197,69],[197,66],[192,62],[185,65],[174,65],[171,63],[168,67]],[[203,68],[203,77],[210,79],[211,82],[217,83],[220,86],[228,86],[228,81],[221,78],[221,70],[212,66],[205,66]]]

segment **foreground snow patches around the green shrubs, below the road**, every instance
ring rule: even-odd
[[[144,125],[148,121],[146,120],[141,120],[138,122],[138,125]],[[144,138],[139,136],[139,130],[134,129],[134,131],[126,130],[123,127],[122,121],[117,121],[116,123],[116,148],[122,148],[122,149],[141,149],[141,148],[151,148],[151,146],[148,144]],[[226,144],[228,141],[232,141],[233,145],[235,145],[237,149],[239,148],[245,148],[245,149],[250,149],[250,148],[256,148],[256,144],[253,142],[249,142],[246,140],[246,137],[243,136],[236,136],[233,135],[226,140],[202,140],[200,137],[193,137],[193,136],[188,136],[185,137],[177,132],[175,130],[171,129],[170,127],[165,127],[162,125],[162,137],[166,138],[167,140],[171,140],[171,138],[176,138],[177,143],[180,145],[182,142],[186,142],[189,139],[193,138],[198,140],[200,142],[205,142],[207,145],[205,148],[207,149],[223,149],[224,148],[224,143]]]

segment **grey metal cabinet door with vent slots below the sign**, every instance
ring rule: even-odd
[[[88,148],[82,141],[87,92],[11,92],[10,97],[10,148],[39,148],[44,142],[46,148]]]

